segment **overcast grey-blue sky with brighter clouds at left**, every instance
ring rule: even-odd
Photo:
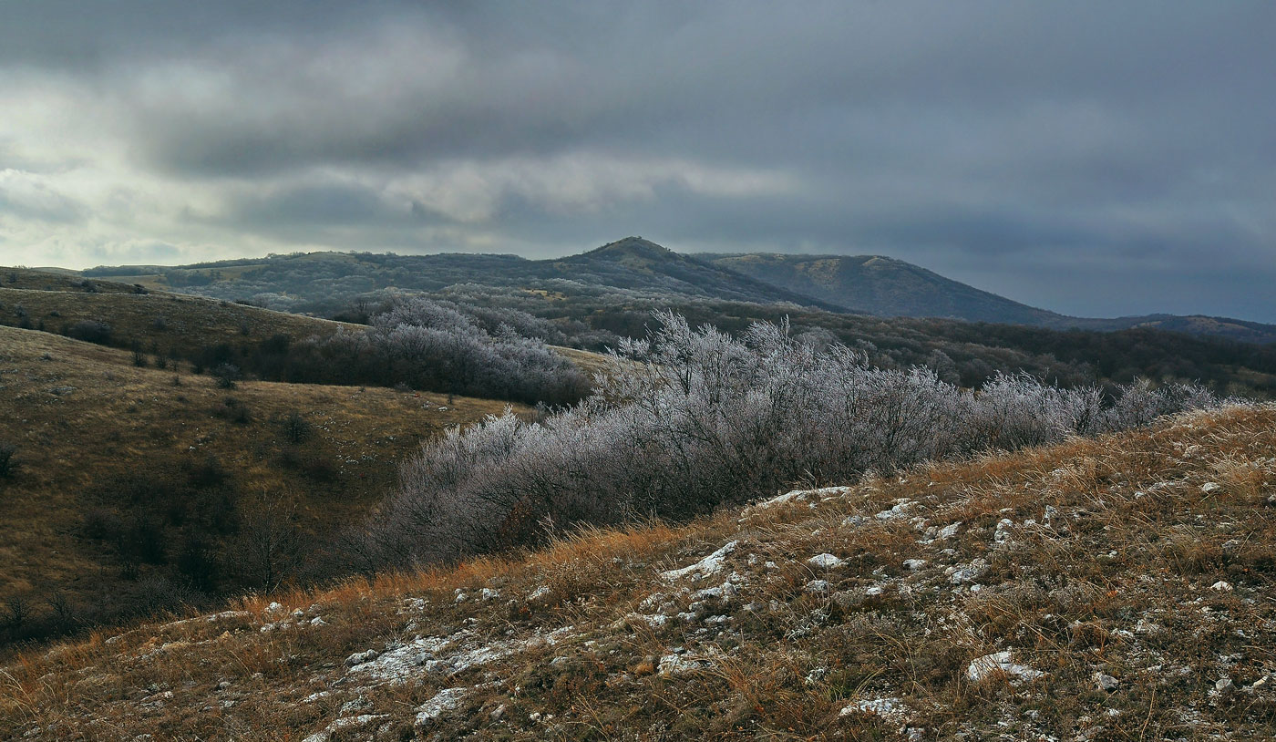
[[[1276,322],[1276,3],[0,0],[0,263],[886,254]]]

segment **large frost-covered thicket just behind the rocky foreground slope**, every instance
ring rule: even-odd
[[[1026,374],[971,392],[931,369],[873,367],[785,323],[736,338],[666,313],[657,331],[620,344],[581,404],[537,423],[507,413],[429,444],[350,549],[367,570],[449,561],[582,524],[685,519],[796,481],[847,483],[1216,404],[1199,386],[1109,396]]]

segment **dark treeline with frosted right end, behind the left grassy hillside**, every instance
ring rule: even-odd
[[[300,340],[286,333],[251,340],[245,331],[239,341],[185,351],[167,342],[168,328],[161,315],[149,327],[125,335],[106,319],[79,319],[52,328],[43,319],[32,322],[20,307],[9,314],[18,327],[129,349],[139,367],[176,370],[179,363],[188,363],[194,373],[217,375],[227,387],[242,378],[402,386],[530,405],[572,404],[590,391],[590,379],[547,345],[567,340],[558,323],[518,309],[422,296],[353,303],[343,318],[367,324],[357,329]]]

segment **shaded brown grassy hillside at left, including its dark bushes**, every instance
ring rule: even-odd
[[[202,317],[221,327],[274,314],[207,304]],[[218,324],[188,328],[189,341],[208,327]],[[19,600],[29,621],[74,628],[180,599],[191,584],[216,594],[260,582],[241,549],[265,511],[296,541],[281,564],[306,576],[325,540],[394,484],[397,461],[504,406],[375,387],[226,390],[185,369],[137,368],[128,351],[0,327],[0,442],[18,447],[15,471],[0,478],[0,616],[11,622]]]

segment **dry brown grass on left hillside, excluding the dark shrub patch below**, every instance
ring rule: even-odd
[[[222,390],[208,377],[135,368],[121,350],[0,327],[0,439],[19,447],[17,471],[0,484],[0,599],[61,590],[88,605],[134,589],[107,549],[79,534],[85,512],[125,508],[120,485],[180,480],[212,457],[240,492],[285,493],[318,539],[361,519],[422,441],[501,409],[375,387]],[[240,410],[246,421],[236,421]],[[291,411],[313,430],[301,443],[282,433]]]

